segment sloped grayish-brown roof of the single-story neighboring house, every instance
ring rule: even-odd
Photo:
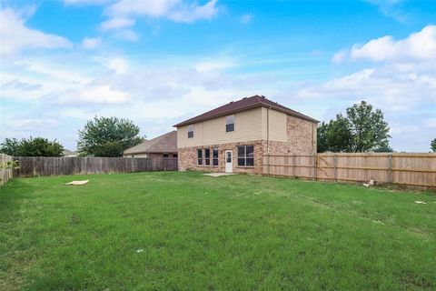
[[[174,130],[154,139],[145,140],[124,151],[124,155],[139,153],[177,153],[177,132]]]

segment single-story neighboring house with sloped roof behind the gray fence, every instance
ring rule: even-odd
[[[177,132],[174,130],[154,139],[132,146],[123,153],[124,157],[177,157]]]

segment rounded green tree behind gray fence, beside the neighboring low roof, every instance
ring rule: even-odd
[[[122,156],[125,149],[143,141],[139,127],[132,121],[95,116],[79,130],[77,149],[81,156]]]

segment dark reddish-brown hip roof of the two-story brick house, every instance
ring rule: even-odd
[[[192,125],[194,123],[204,121],[207,119],[212,119],[212,118],[219,117],[222,115],[229,115],[232,113],[236,113],[239,111],[252,109],[252,108],[260,107],[260,106],[267,107],[267,108],[271,107],[274,110],[281,111],[281,112],[288,114],[288,115],[300,117],[302,119],[309,120],[312,122],[318,122],[318,120],[313,119],[312,117],[309,117],[307,115],[303,115],[300,112],[294,111],[291,108],[285,107],[285,106],[280,105],[276,102],[272,102],[271,100],[266,99],[265,96],[253,95],[251,97],[246,97],[246,98],[243,98],[243,99],[238,100],[238,101],[234,101],[234,102],[232,101],[231,103],[228,103],[226,105],[215,108],[211,111],[203,113],[203,115],[194,116],[193,118],[185,120],[185,121],[183,121],[177,125],[174,125],[174,126],[179,127],[179,126],[183,126],[183,125]]]

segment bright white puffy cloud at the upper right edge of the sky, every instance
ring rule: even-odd
[[[372,39],[364,45],[352,45],[350,50],[333,56],[334,62],[346,58],[353,60],[368,59],[374,62],[420,60],[436,61],[436,25],[428,25],[420,32],[395,41],[391,35]]]

